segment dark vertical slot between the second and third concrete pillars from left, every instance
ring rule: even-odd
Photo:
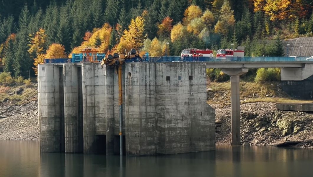
[[[78,83],[78,151],[84,151],[83,139],[83,90],[81,81],[81,67],[77,68],[77,83]]]

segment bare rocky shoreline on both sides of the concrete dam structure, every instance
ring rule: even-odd
[[[216,114],[216,145],[229,145],[230,105],[210,105]],[[0,139],[39,140],[37,100],[22,105],[4,101],[0,107]],[[312,112],[280,111],[265,102],[241,104],[240,109],[241,144],[313,147]]]

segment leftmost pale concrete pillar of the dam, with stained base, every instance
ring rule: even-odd
[[[38,65],[38,120],[42,152],[61,151],[60,68],[53,64]]]

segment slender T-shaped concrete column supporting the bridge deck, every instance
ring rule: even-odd
[[[248,68],[226,68],[223,73],[230,76],[231,112],[232,112],[232,145],[240,145],[240,96],[239,76],[248,72]]]

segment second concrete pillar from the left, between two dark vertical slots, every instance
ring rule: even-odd
[[[77,67],[64,64],[64,139],[65,152],[80,152]]]

